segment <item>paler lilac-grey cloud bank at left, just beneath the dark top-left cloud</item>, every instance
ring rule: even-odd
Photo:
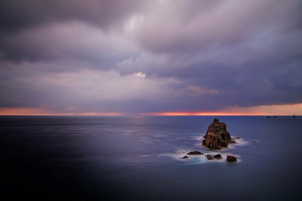
[[[3,59],[15,62],[73,59],[108,69],[135,54],[129,41],[82,22],[47,24],[8,34],[1,42]]]

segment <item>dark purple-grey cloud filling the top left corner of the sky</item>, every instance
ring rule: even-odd
[[[120,23],[143,6],[142,1],[130,0],[25,0],[0,3],[0,29],[18,31],[65,21],[85,21],[101,28]]]

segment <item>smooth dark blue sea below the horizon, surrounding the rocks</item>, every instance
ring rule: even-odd
[[[239,145],[180,159],[210,153],[198,145],[213,118],[0,117],[2,196],[302,200],[302,117],[219,117]]]

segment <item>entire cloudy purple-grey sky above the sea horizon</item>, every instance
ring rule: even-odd
[[[300,0],[0,2],[0,115],[302,115]]]

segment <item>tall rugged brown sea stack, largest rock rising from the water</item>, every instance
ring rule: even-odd
[[[209,149],[219,150],[221,147],[228,147],[228,144],[236,143],[232,140],[230,133],[226,131],[225,123],[219,123],[218,119],[214,119],[203,137],[202,145]]]

